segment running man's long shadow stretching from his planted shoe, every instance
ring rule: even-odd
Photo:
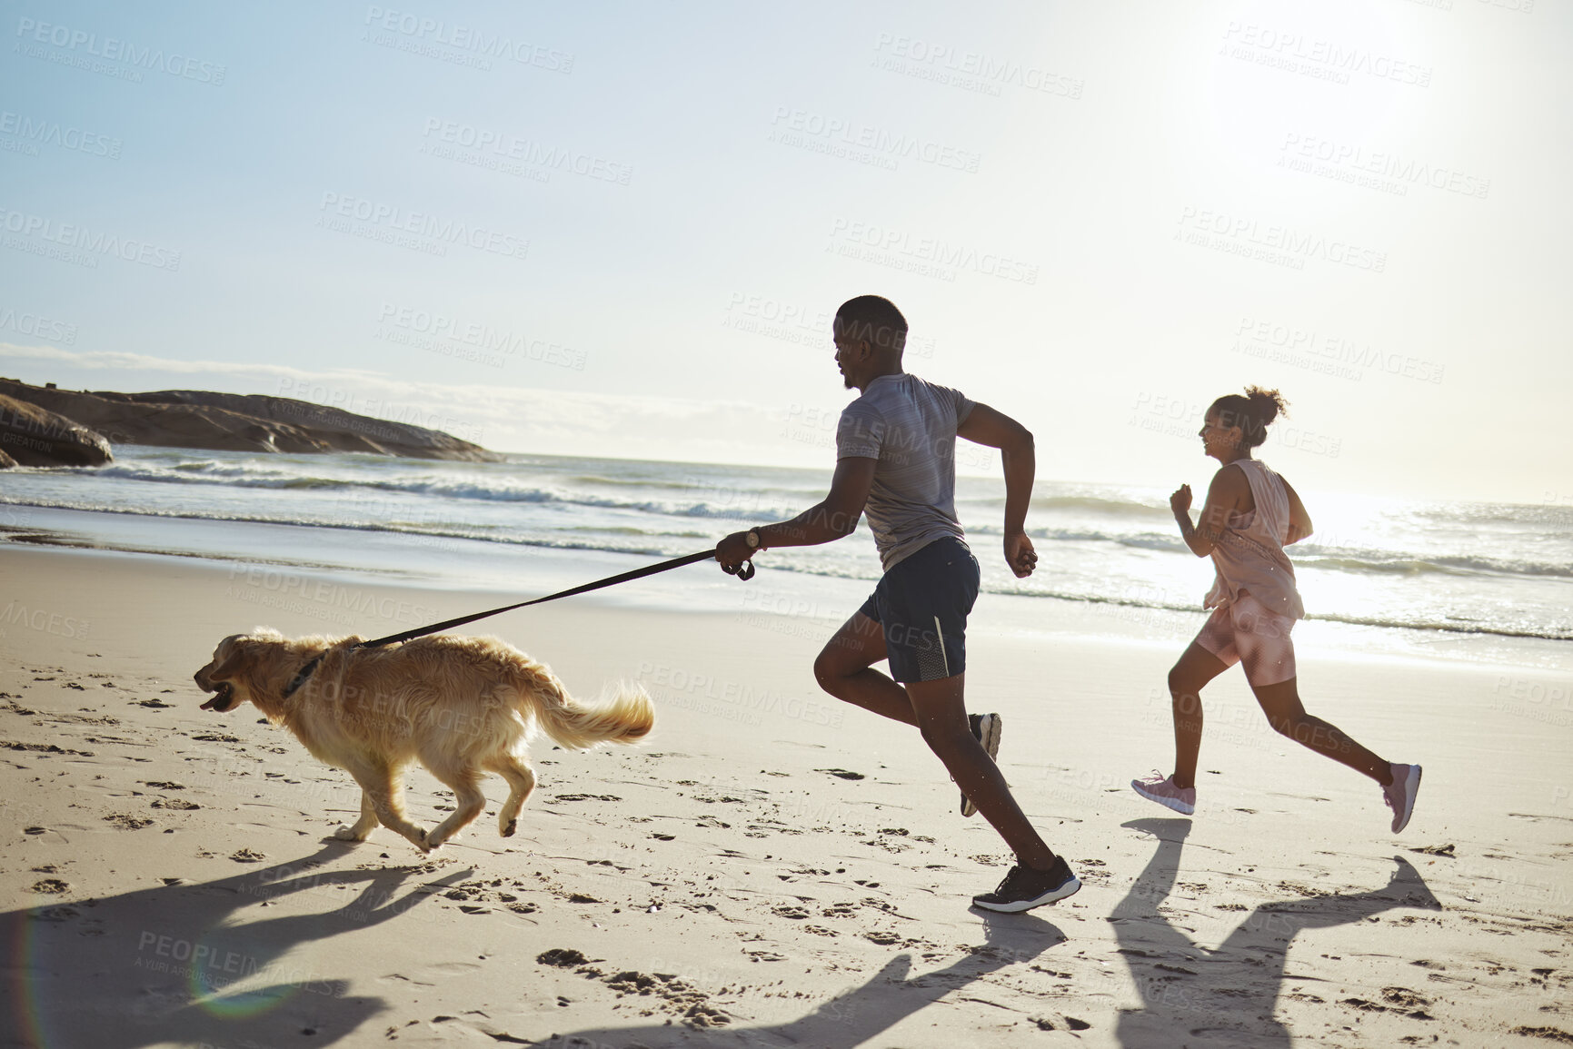
[[[606,1027],[552,1035],[538,1049],[659,1049],[662,1046],[742,1046],[849,1049],[862,1046],[919,1010],[1007,966],[1029,963],[1063,944],[1065,934],[1029,914],[983,915],[983,944],[944,969],[909,977],[912,959],[897,955],[862,986],[840,994],[807,1016],[769,1027],[692,1030],[676,1025]]]

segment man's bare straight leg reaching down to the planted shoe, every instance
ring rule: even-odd
[[[879,675],[884,678],[884,675]],[[889,678],[886,678],[889,681]],[[893,684],[893,683],[892,683]],[[923,733],[923,742],[944,761],[961,790],[967,793],[983,818],[994,824],[1000,837],[1016,854],[1016,862],[1033,870],[1049,870],[1054,851],[1044,845],[1038,832],[1027,823],[1021,805],[1011,797],[999,766],[983,750],[967,727],[967,708],[963,698],[966,675],[958,673],[938,681],[912,681],[906,686],[909,712]],[[897,686],[900,689],[900,686]]]

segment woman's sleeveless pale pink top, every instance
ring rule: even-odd
[[[1295,588],[1295,566],[1284,552],[1284,539],[1288,538],[1288,492],[1284,491],[1284,478],[1255,459],[1235,459],[1230,466],[1244,470],[1257,508],[1233,514],[1224,535],[1213,544],[1218,579],[1213,580],[1203,607],[1230,604],[1241,593],[1251,593],[1269,612],[1301,620],[1306,607]]]

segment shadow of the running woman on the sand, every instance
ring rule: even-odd
[[[1126,1049],[1288,1049],[1290,1032],[1273,1018],[1284,961],[1301,929],[1350,925],[1392,907],[1441,911],[1405,859],[1394,857],[1387,884],[1372,892],[1265,903],[1218,947],[1199,945],[1159,904],[1173,889],[1189,819],[1133,819],[1158,838],[1158,851],[1111,922],[1142,1008],[1120,1013],[1115,1030]]]

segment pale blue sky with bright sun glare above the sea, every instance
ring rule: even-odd
[[[1573,502],[1567,5],[0,9],[8,376],[827,467],[878,293],[1041,477],[1262,382],[1301,488]]]

